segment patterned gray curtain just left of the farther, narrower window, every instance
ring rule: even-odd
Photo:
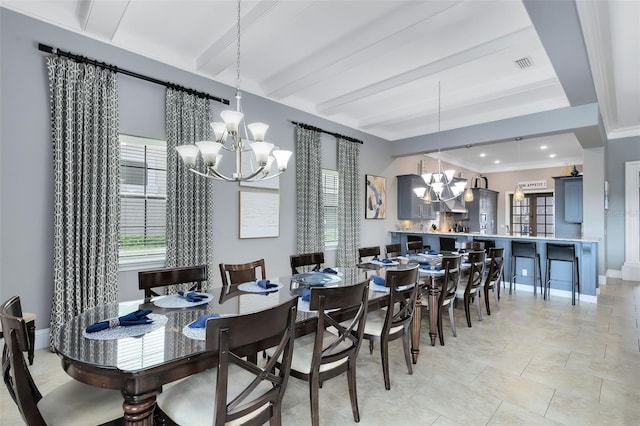
[[[320,132],[296,127],[296,235],[298,253],[324,251]]]

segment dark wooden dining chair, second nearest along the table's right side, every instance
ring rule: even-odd
[[[360,421],[356,357],[364,334],[368,295],[369,280],[344,287],[311,288],[309,309],[318,312],[316,330],[315,333],[296,338],[291,376],[309,383],[313,426],[320,423],[321,384],[345,372],[353,419]],[[348,325],[341,324],[345,319],[349,320]],[[335,330],[328,331],[328,327]],[[269,357],[275,356],[272,349],[267,349],[267,354]]]

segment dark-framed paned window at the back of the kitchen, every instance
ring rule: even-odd
[[[513,235],[553,237],[553,194],[525,194],[521,202],[511,199],[511,229]]]

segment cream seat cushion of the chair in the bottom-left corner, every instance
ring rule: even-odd
[[[120,391],[71,380],[46,394],[38,409],[49,426],[87,426],[123,416]]]

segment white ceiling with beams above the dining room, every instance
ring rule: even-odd
[[[610,137],[640,134],[639,3],[576,3]],[[235,85],[235,1],[1,4]],[[571,106],[536,28],[518,0],[243,1],[242,90],[390,141]],[[522,58],[532,65],[520,69]],[[539,144],[553,149],[535,150]],[[513,145],[515,152],[495,144],[448,154],[483,150],[507,169],[521,159],[548,165],[551,151],[558,164],[582,158],[573,134]]]

